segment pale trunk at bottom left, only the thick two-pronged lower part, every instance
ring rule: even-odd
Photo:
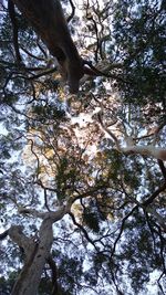
[[[22,232],[17,232],[14,235],[12,229],[9,235],[23,247],[27,256],[11,295],[37,295],[41,275],[53,242],[52,220],[46,218],[42,221],[39,243],[32,242]]]

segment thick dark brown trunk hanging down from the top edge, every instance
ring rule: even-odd
[[[56,57],[70,92],[79,91],[83,62],[73,43],[59,0],[12,0]]]

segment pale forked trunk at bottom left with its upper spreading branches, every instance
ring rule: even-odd
[[[23,233],[22,226],[13,225],[9,229],[9,236],[23,249],[25,254],[24,265],[13,286],[11,295],[37,295],[41,275],[50,256],[53,242],[52,224],[69,212],[71,204],[61,207],[55,212],[40,213],[37,210],[20,209],[20,213],[33,214],[43,221],[39,231],[39,241],[34,242]]]

